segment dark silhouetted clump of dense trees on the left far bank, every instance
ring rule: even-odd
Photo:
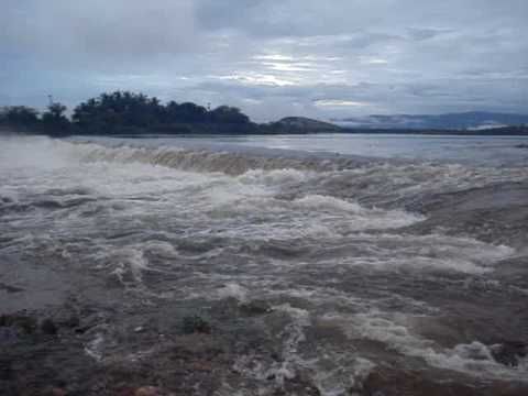
[[[193,102],[162,103],[155,97],[130,91],[101,94],[81,102],[66,116],[67,108],[52,102],[40,113],[25,106],[0,110],[0,125],[18,131],[47,134],[123,134],[123,133],[245,133],[256,124],[240,109],[220,106],[207,109]]]

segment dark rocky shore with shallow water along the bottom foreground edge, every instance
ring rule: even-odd
[[[24,292],[10,292],[19,294]],[[14,296],[14,295],[13,295]],[[167,314],[173,311],[173,317]],[[260,328],[274,318],[276,333]],[[248,395],[321,395],[301,372],[276,371],[248,383],[241,356],[283,364],[288,356],[279,348],[280,317],[264,301],[241,305],[219,301],[200,316],[183,316],[161,304],[144,312],[114,311],[109,307],[75,305],[45,311],[20,311],[0,317],[0,389],[2,395],[228,395],[238,386]],[[316,327],[315,337],[343,337],[337,329]],[[493,358],[516,366],[528,345],[503,341]],[[251,366],[251,364],[250,364]],[[449,372],[406,370],[386,362],[359,375],[343,395],[364,396],[521,396],[528,384],[477,381]],[[264,391],[264,393],[262,393]]]

